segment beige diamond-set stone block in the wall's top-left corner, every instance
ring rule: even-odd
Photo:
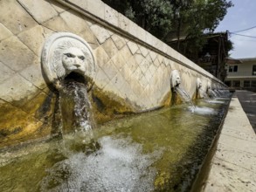
[[[16,0],[0,1],[0,23],[13,34],[30,29],[37,23]]]

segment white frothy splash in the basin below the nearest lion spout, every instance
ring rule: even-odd
[[[73,154],[59,161],[40,183],[41,191],[153,191],[156,168],[149,168],[161,150],[142,154],[131,138],[100,139],[97,153]]]

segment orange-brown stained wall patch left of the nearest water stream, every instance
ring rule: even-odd
[[[2,101],[0,103],[0,148],[44,138],[51,134],[54,100],[52,93],[39,93],[21,107]]]

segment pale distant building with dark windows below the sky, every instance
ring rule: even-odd
[[[256,91],[256,58],[226,58],[225,68],[227,86]]]

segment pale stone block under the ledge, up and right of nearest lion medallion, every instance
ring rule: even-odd
[[[88,29],[85,19],[77,11],[67,10],[61,13],[60,17],[63,18],[68,28],[76,34]]]

